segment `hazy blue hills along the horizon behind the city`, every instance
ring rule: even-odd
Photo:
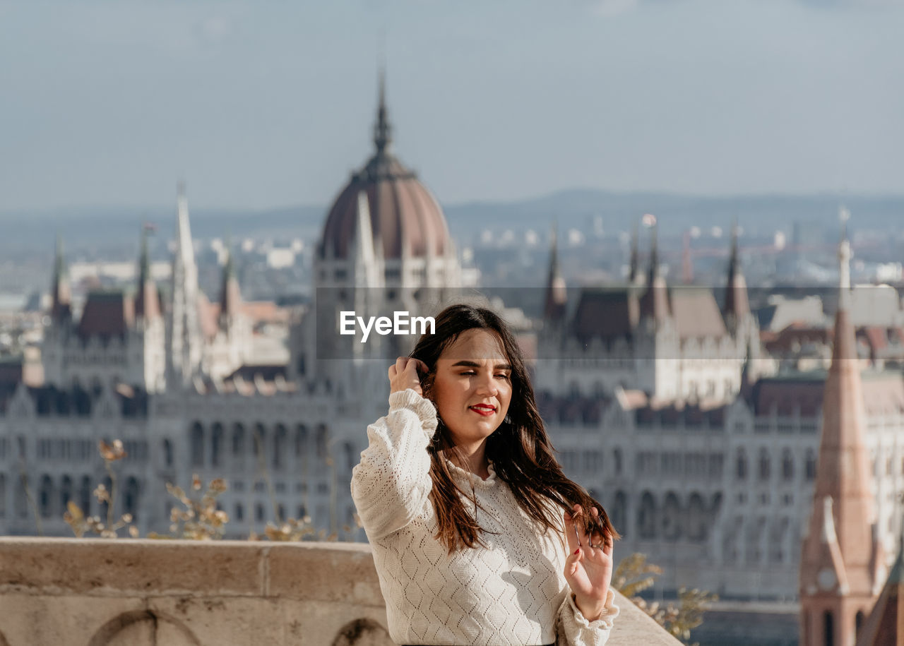
[[[904,222],[904,196],[849,195],[852,229],[897,230]],[[474,201],[444,204],[449,228],[467,243],[482,229],[546,231],[553,220],[560,228],[588,230],[595,220],[604,230],[627,230],[640,215],[654,213],[665,235],[691,226],[730,226],[737,217],[750,233],[783,229],[795,221],[837,228],[837,195],[737,195],[707,197],[657,192],[607,192],[569,189],[518,201]],[[326,215],[325,205],[289,206],[264,211],[192,209],[197,238],[315,238]],[[71,248],[104,248],[137,244],[141,222],[155,222],[162,236],[172,236],[175,206],[73,207],[56,211],[0,211],[0,250],[46,250],[59,231]]]

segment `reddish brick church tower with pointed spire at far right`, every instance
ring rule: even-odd
[[[884,580],[860,364],[848,315],[851,247],[846,237],[838,255],[832,367],[825,380],[813,511],[801,553],[801,646],[853,646]]]

